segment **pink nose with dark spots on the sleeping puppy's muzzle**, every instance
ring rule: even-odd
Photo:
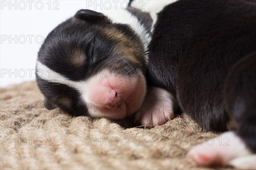
[[[117,108],[120,108],[122,105],[122,94],[118,94],[113,89],[108,91],[107,99],[105,101],[105,108],[112,108],[113,106],[116,106]]]

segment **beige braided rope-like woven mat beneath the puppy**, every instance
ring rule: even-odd
[[[217,135],[204,133],[186,115],[143,128],[132,127],[130,119],[48,111],[35,82],[1,88],[0,94],[0,169],[203,170],[186,153]]]

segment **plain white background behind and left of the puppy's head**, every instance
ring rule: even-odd
[[[113,10],[127,4],[128,0],[0,0],[0,87],[34,80],[44,38],[79,9]]]

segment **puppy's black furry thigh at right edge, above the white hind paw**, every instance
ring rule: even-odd
[[[237,134],[256,151],[256,52],[230,68],[224,83],[224,101],[237,124]]]

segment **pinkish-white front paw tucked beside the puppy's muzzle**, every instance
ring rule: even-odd
[[[135,115],[142,125],[163,125],[174,116],[176,99],[163,88],[150,87],[144,103]]]

